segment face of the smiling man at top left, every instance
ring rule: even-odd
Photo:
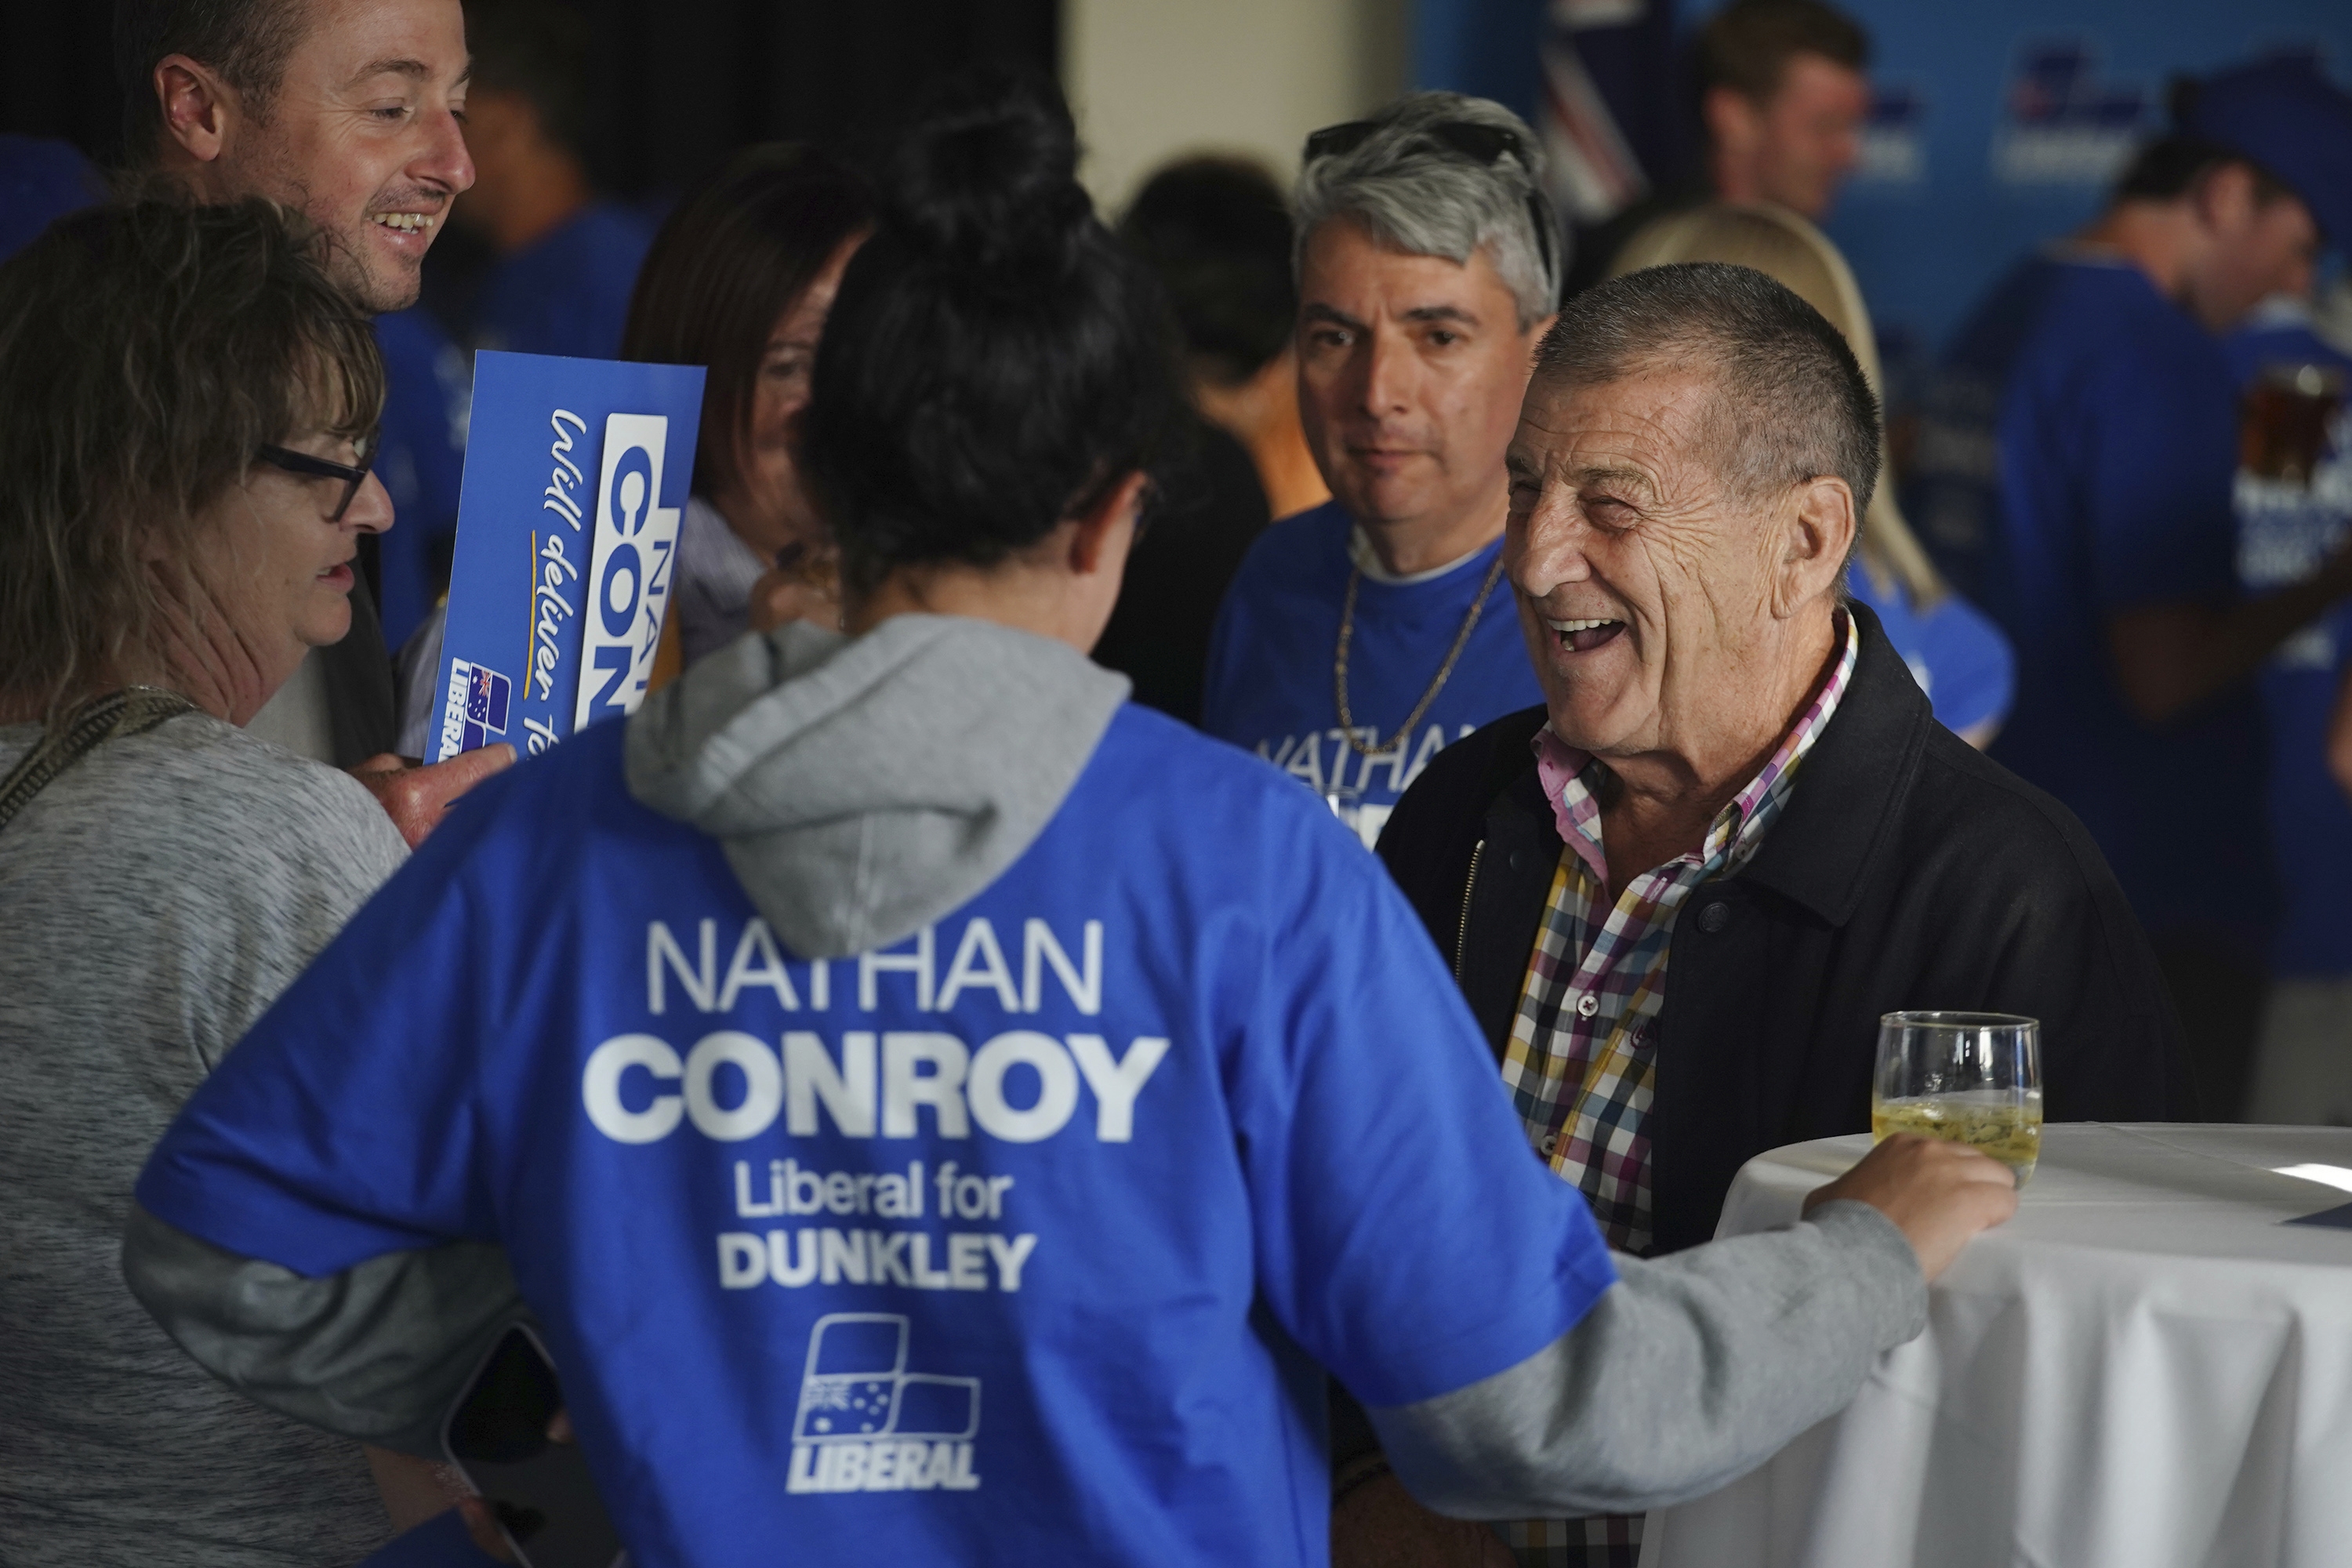
[[[412,306],[426,247],[473,183],[466,71],[459,0],[310,0],[268,118],[240,125],[221,179],[299,207],[365,308]]]

